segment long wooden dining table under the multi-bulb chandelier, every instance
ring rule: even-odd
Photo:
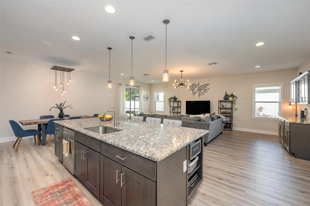
[[[92,118],[94,116],[89,115],[80,115],[80,116],[70,116],[70,117],[82,117],[82,118]],[[64,120],[69,119],[70,117],[64,117]],[[59,119],[59,118],[46,118],[46,119],[30,119],[30,120],[19,120],[18,122],[22,126],[26,125],[38,125],[38,130],[42,131],[42,134],[39,135],[40,143],[42,146],[46,145],[46,139],[47,139],[47,123],[51,119]]]

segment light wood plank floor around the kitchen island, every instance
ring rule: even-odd
[[[71,177],[93,205],[100,202],[54,156],[51,146],[0,143],[0,206],[34,205],[31,191]],[[309,206],[310,161],[295,159],[277,136],[224,131],[204,147],[204,180],[190,206]]]

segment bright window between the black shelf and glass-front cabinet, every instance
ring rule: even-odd
[[[278,119],[282,84],[253,85],[253,117]]]

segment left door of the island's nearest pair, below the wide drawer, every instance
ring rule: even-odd
[[[100,156],[100,200],[106,206],[121,206],[122,165]]]

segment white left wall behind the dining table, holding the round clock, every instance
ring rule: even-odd
[[[72,82],[65,84],[65,95],[55,92],[53,65],[39,65],[28,62],[2,59],[0,61],[0,138],[14,136],[9,120],[38,119],[41,115],[58,116],[59,110],[49,109],[55,103],[67,101],[73,110],[64,113],[73,115],[103,114],[106,110],[116,110],[119,114],[119,84],[128,84],[123,79],[111,78],[112,89],[107,89],[109,77],[90,73],[71,72]],[[150,84],[136,82],[142,86],[143,94],[150,95]],[[59,86],[58,86],[59,87]],[[60,90],[60,89],[59,89]],[[142,95],[143,95],[142,94]],[[141,95],[141,98],[142,98]],[[149,112],[150,101],[143,102],[143,111]],[[24,126],[24,129],[36,126]]]

